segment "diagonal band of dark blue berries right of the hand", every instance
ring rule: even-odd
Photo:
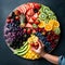
[[[46,51],[49,52],[52,50],[51,43],[47,40],[47,37],[44,37],[41,32],[36,32],[36,36],[42,41],[42,43],[46,46]]]

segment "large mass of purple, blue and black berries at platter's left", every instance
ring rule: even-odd
[[[20,27],[20,20],[15,20],[15,14],[12,12],[10,16],[11,23],[6,23],[4,26],[5,41],[10,43],[10,47],[17,49],[23,46],[23,41],[26,41],[29,35],[24,34],[24,28]]]

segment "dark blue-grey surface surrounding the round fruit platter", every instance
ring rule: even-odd
[[[0,1],[0,65],[53,65],[46,60],[28,61],[13,55],[6,47],[3,38],[3,26],[9,13],[17,5],[25,2],[39,2],[51,8],[61,23],[61,39],[56,49],[52,52],[55,55],[65,54],[65,0],[1,0]]]

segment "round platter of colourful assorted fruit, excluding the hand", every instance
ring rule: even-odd
[[[46,52],[55,49],[60,39],[60,23],[50,8],[28,2],[17,6],[6,17],[4,38],[14,54],[36,60],[40,55],[31,50],[38,49],[38,39],[46,46]]]

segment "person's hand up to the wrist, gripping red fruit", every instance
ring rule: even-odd
[[[40,40],[38,40],[38,43],[39,43],[38,49],[35,49],[34,47],[31,47],[31,50],[40,55],[43,55],[46,53],[44,52],[44,44]]]

